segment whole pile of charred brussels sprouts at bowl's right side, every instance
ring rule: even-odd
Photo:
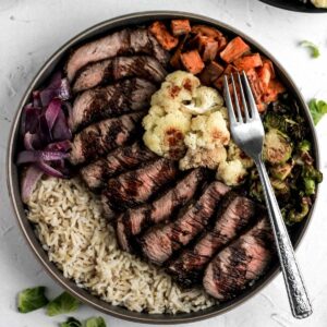
[[[266,137],[263,158],[288,225],[293,225],[308,214],[317,183],[323,174],[314,168],[310,125],[301,108],[288,94],[269,105],[264,118]],[[249,195],[264,202],[256,169],[251,169],[245,181]]]

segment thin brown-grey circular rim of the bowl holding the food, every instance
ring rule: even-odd
[[[10,138],[9,138],[9,147],[8,147],[8,156],[7,156],[7,183],[9,189],[9,196],[11,198],[11,203],[15,213],[15,216],[17,218],[19,225],[25,235],[25,239],[33,250],[35,256],[39,259],[39,262],[43,264],[43,266],[46,268],[46,271],[55,279],[57,282],[61,284],[66,291],[72,293],[74,296],[78,298],[82,302],[89,304],[90,306],[101,311],[102,313],[112,315],[118,318],[122,318],[125,320],[131,320],[135,323],[145,323],[145,324],[181,324],[181,323],[193,323],[206,318],[210,318],[220,314],[223,314],[238,305],[246,302],[250,298],[257,294],[265,286],[267,286],[280,271],[278,268],[278,265],[275,265],[263,278],[261,278],[253,287],[249,288],[246,291],[243,292],[240,296],[237,296],[235,299],[215,305],[213,307],[196,312],[196,313],[187,313],[187,314],[146,314],[146,313],[135,313],[131,312],[126,308],[120,307],[120,306],[113,306],[99,298],[96,298],[92,295],[86,290],[83,290],[78,288],[72,280],[64,278],[62,272],[52,264],[48,257],[44,249],[41,247],[40,243],[38,242],[34,231],[32,223],[26,218],[24,206],[22,205],[21,196],[20,196],[20,185],[19,185],[19,179],[17,179],[17,170],[14,165],[14,155],[16,150],[16,137],[19,133],[19,125],[20,125],[20,118],[21,118],[21,110],[23,106],[27,102],[31,93],[33,89],[37,87],[50,74],[52,69],[56,66],[56,64],[60,61],[60,59],[66,53],[66,51],[74,45],[78,44],[80,41],[84,41],[85,39],[89,37],[94,37],[95,35],[99,35],[104,32],[109,33],[110,31],[114,28],[122,28],[126,25],[137,25],[137,24],[144,24],[146,22],[150,22],[154,20],[168,20],[173,17],[184,17],[184,19],[191,19],[195,22],[201,22],[205,24],[210,24],[214,26],[217,26],[220,29],[223,29],[228,34],[232,35],[240,35],[243,37],[247,43],[251,44],[252,47],[256,48],[259,52],[264,53],[266,57],[272,60],[277,72],[282,80],[282,82],[287,85],[288,89],[298,100],[300,107],[302,108],[304,116],[306,117],[306,120],[310,124],[311,129],[311,136],[314,144],[314,152],[315,152],[315,159],[316,159],[316,167],[320,168],[319,165],[319,150],[318,150],[318,144],[317,144],[317,137],[314,130],[314,124],[310,114],[310,111],[306,107],[306,104],[303,99],[303,97],[300,94],[300,90],[295,86],[292,78],[288,75],[286,70],[280,65],[280,63],[271,56],[268,51],[266,51],[261,45],[258,45],[255,40],[253,40],[251,37],[244,35],[242,32],[225,24],[220,23],[216,20],[193,14],[193,13],[186,13],[186,12],[177,12],[177,11],[150,11],[150,12],[141,12],[141,13],[132,13],[123,16],[119,16],[112,20],[108,20],[106,22],[99,23],[90,28],[87,28],[86,31],[82,32],[77,36],[73,37],[71,40],[65,43],[53,56],[49,58],[49,60],[43,65],[43,68],[39,70],[39,72],[36,74],[33,82],[29,84],[27,90],[25,92],[15,118],[12,123],[12,128],[10,131]],[[317,195],[319,189],[317,190]],[[311,221],[311,217],[314,213],[315,203],[311,209],[310,216],[305,221],[299,226],[296,231],[294,232],[295,237],[294,240],[294,247],[296,249],[300,241],[302,240],[308,223]]]

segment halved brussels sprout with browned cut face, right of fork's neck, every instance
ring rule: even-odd
[[[288,161],[292,155],[292,144],[287,135],[276,129],[269,130],[264,141],[264,159],[271,165]]]

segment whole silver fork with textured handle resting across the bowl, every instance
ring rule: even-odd
[[[264,126],[245,73],[243,72],[242,76],[237,73],[241,95],[240,100],[243,105],[244,117],[242,116],[240,101],[238,99],[233,75],[231,75],[230,78],[234,94],[234,105],[231,99],[226,75],[223,84],[231,135],[235,144],[254,160],[257,167],[292,314],[295,318],[305,318],[312,314],[312,305],[296,264],[294,251],[275,197],[266,167],[262,160],[262,149],[265,136]],[[243,89],[245,89],[246,96]],[[233,107],[235,107],[237,110],[234,110]]]

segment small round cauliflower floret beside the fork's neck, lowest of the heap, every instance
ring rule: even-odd
[[[235,159],[219,164],[216,178],[229,186],[234,186],[244,181],[246,173],[241,160]]]

